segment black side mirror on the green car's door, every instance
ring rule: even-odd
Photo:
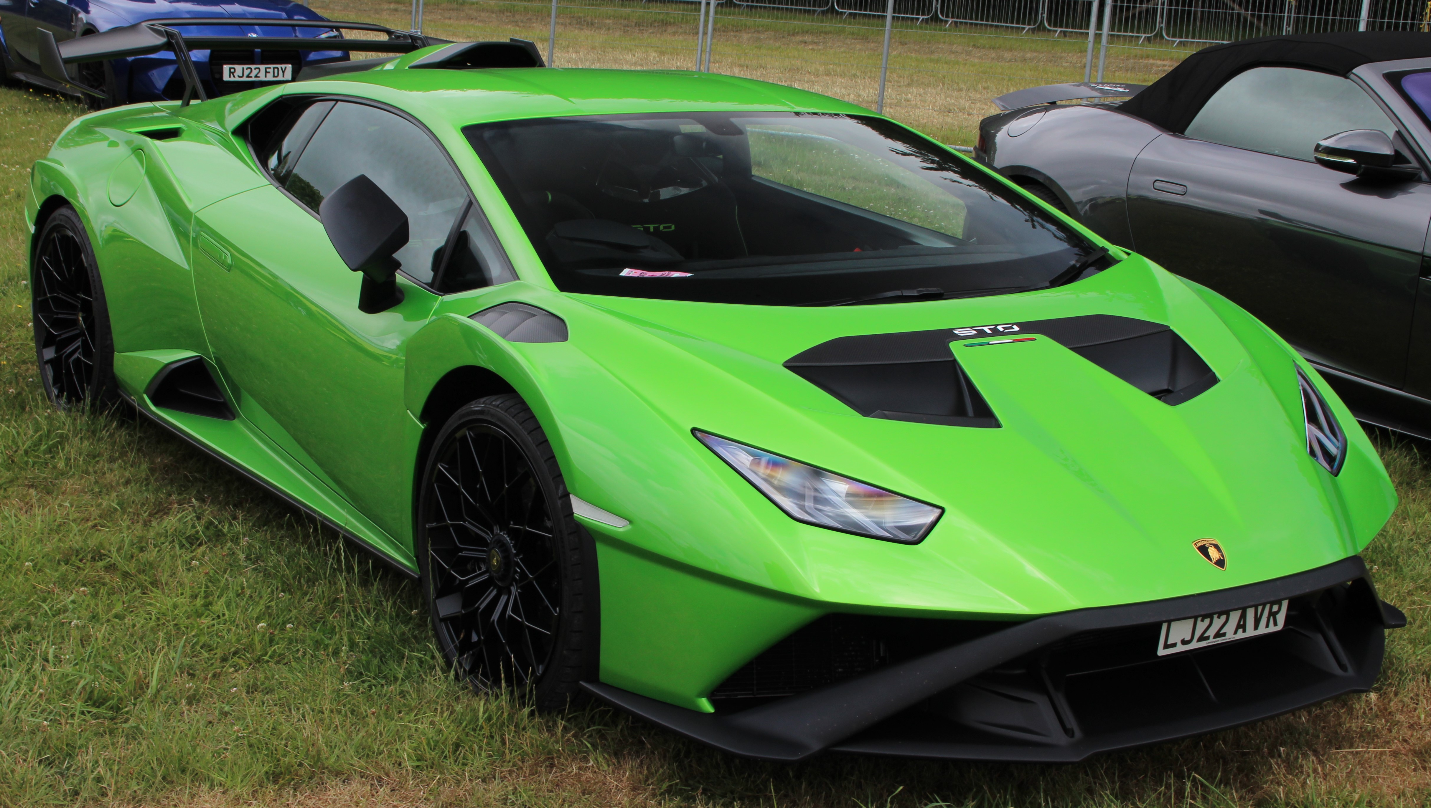
[[[362,273],[358,310],[376,315],[402,302],[392,257],[409,240],[408,215],[368,174],[358,174],[318,206],[328,240],[348,269]]]

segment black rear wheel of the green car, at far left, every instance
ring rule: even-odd
[[[44,222],[30,260],[34,350],[44,393],[60,409],[119,400],[114,340],[94,250],[70,206]]]

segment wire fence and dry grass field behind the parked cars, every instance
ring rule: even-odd
[[[534,40],[557,67],[710,70],[881,109],[970,144],[989,99],[1151,83],[1211,43],[1431,30],[1431,0],[312,0],[454,40]]]

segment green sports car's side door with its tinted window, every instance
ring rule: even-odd
[[[379,528],[406,535],[414,469],[395,462],[416,429],[402,398],[405,343],[438,287],[505,280],[509,269],[489,257],[489,227],[441,146],[395,112],[312,103],[263,160],[273,184],[196,216],[195,285],[215,365],[245,418]],[[396,253],[404,299],[379,313],[358,310],[361,275],[316,213],[359,174],[396,202],[411,233]]]

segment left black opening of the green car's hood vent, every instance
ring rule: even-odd
[[[949,350],[950,339],[947,329],[841,336],[793,356],[786,368],[867,418],[999,426]]]

